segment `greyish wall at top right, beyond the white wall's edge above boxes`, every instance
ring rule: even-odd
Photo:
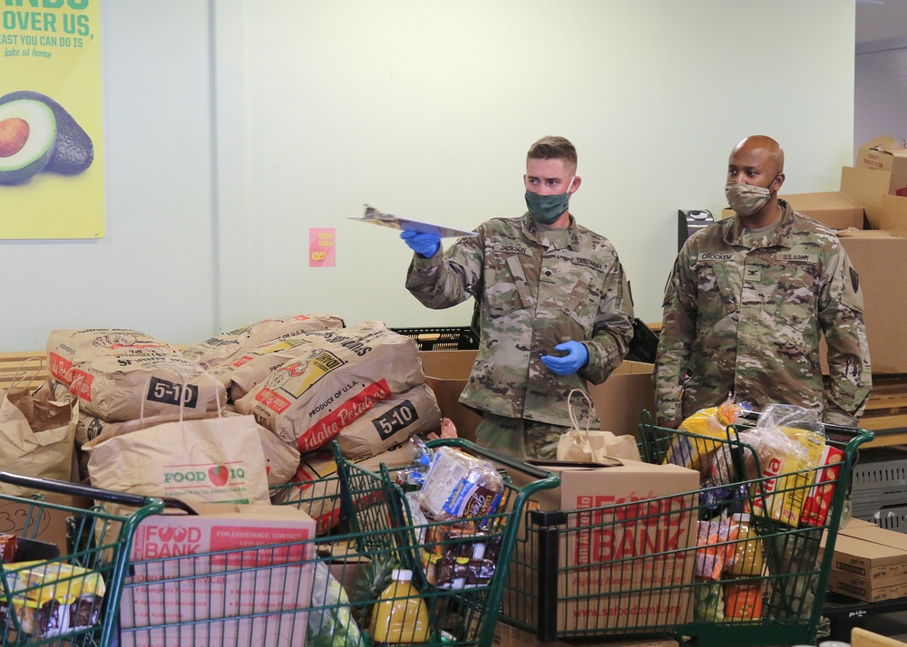
[[[857,47],[853,102],[853,154],[880,135],[907,139],[907,39]]]

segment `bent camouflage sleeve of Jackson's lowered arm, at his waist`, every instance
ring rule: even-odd
[[[592,336],[585,340],[589,363],[580,374],[593,384],[608,379],[629,351],[633,339],[633,300],[623,267],[615,259],[605,278],[604,292]]]

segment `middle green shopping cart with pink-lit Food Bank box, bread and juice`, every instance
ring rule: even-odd
[[[491,645],[517,519],[558,479],[462,439],[412,439],[395,469],[334,450],[336,473],[272,488],[261,524],[198,504],[147,520],[120,644]]]

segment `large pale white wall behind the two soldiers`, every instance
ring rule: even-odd
[[[717,213],[736,141],[782,143],[786,192],[838,188],[853,20],[852,0],[105,2],[107,237],[0,243],[23,276],[0,286],[0,350],[86,325],[191,343],[307,312],[463,325],[468,306],[405,292],[394,232],[346,217],[517,216],[544,134],[576,144],[572,211],[658,321],[677,209]],[[308,267],[309,227],[336,227],[336,267]]]

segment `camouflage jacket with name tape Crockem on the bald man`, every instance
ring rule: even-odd
[[[758,410],[799,405],[834,424],[863,414],[872,375],[859,277],[830,229],[778,202],[777,226],[750,246],[735,216],[680,250],[658,344],[658,420],[683,420],[729,393]]]

